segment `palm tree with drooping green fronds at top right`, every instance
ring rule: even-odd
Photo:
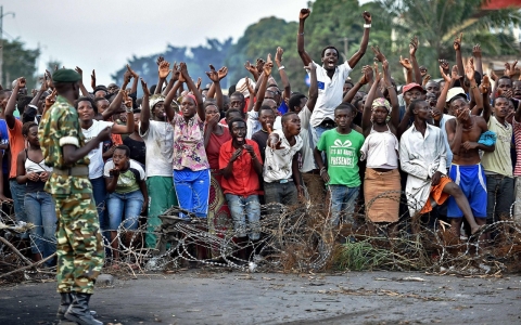
[[[513,43],[511,26],[519,25],[519,10],[481,10],[488,0],[378,0],[394,20],[393,54],[408,53],[408,42],[417,35],[420,40],[419,64],[437,75],[437,60],[454,60],[453,40],[463,32],[461,51],[470,55],[480,43],[484,54],[519,53]],[[492,31],[494,30],[494,32]],[[398,54],[399,55],[399,54]]]

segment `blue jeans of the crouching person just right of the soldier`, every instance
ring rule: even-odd
[[[144,198],[141,190],[127,194],[109,193],[106,197],[106,210],[109,214],[109,229],[116,231],[123,221],[126,230],[136,230],[138,227],[139,216],[143,207]],[[125,219],[123,213],[125,211]]]

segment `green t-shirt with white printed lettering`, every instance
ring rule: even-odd
[[[364,144],[364,135],[351,130],[350,134],[340,134],[336,129],[322,133],[317,148],[325,151],[328,157],[329,183],[347,187],[360,186],[358,158]]]

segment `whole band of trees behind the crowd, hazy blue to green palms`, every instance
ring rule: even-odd
[[[481,44],[483,55],[519,53],[519,44],[514,44],[510,27],[521,22],[520,11],[480,11],[482,2],[483,0],[374,0],[360,6],[357,0],[316,0],[309,2],[312,14],[305,25],[305,49],[319,64],[321,50],[330,44],[336,47],[343,57],[350,58],[359,49],[361,41],[361,13],[369,11],[372,15],[369,48],[351,75],[354,80],[361,75],[364,65],[373,62],[370,46],[379,46],[391,63],[393,78],[398,83],[405,82],[398,60],[399,55],[408,57],[409,40],[415,35],[420,40],[418,63],[427,66],[433,78],[439,76],[439,58],[454,63],[453,40],[461,31],[463,56],[471,54],[475,43]],[[294,17],[296,21],[298,12],[294,13]],[[306,93],[306,73],[296,52],[297,27],[297,22],[266,17],[250,25],[236,43],[228,39],[224,42],[207,40],[205,46],[191,49],[168,46],[163,55],[170,63],[187,62],[190,75],[194,79],[203,77],[203,84],[209,82],[204,74],[208,64],[214,64],[216,68],[226,65],[229,75],[224,80],[223,88],[227,88],[250,75],[244,68],[246,61],[254,64],[258,57],[266,60],[268,53],[271,53],[275,61],[277,47],[281,47],[284,50],[282,64],[292,90]],[[347,50],[344,39],[347,40]],[[155,83],[157,56],[158,54],[134,56],[129,63],[149,83]],[[125,68],[122,67],[112,77],[120,82],[124,72]],[[280,80],[277,67],[274,68],[272,76]]]

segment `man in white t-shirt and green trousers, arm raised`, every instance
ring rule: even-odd
[[[166,120],[165,98],[150,96],[147,83],[143,88],[143,103],[139,123],[139,135],[147,146],[147,188],[149,191],[149,216],[147,218],[145,244],[155,248],[155,231],[161,226],[160,214],[177,206],[177,197],[171,179],[171,160],[174,155],[174,128]]]

